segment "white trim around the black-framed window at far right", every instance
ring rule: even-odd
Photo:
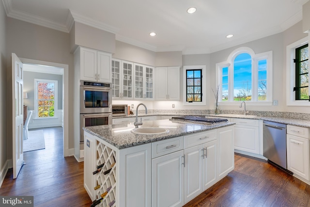
[[[309,43],[309,37],[304,37],[288,46],[286,46],[286,105],[287,106],[310,106],[308,100],[295,100],[293,87],[295,86],[295,48]],[[309,48],[309,47],[308,47]],[[310,67],[310,64],[309,64]],[[309,69],[310,71],[310,69]],[[310,90],[310,87],[309,87]]]

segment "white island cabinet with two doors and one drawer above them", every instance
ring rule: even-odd
[[[217,182],[216,131],[184,136],[184,203],[189,202]]]

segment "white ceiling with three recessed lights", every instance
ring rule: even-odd
[[[204,54],[283,32],[302,20],[308,0],[2,1],[7,16],[62,32],[74,19],[152,51]],[[189,7],[197,12],[187,14]]]

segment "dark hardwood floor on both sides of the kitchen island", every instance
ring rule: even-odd
[[[8,171],[0,195],[32,195],[35,207],[89,207],[83,162],[63,158],[63,129],[44,129],[46,149],[25,152],[16,179]],[[310,186],[264,160],[235,154],[235,169],[184,207],[310,207]]]

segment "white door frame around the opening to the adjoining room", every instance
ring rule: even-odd
[[[52,63],[47,61],[32,60],[26,58],[19,58],[23,64],[42,64],[54,67],[63,68],[63,156],[68,157],[73,155],[73,152],[70,153],[69,150],[69,65],[68,64],[59,64]]]

